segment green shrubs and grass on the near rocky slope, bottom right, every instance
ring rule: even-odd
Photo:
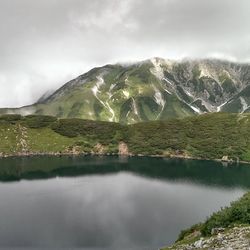
[[[171,247],[164,248],[163,250],[197,249],[194,247],[193,243],[198,242],[199,239],[204,240],[204,237],[205,237],[204,241],[213,243],[214,245],[202,247],[202,249],[203,248],[211,249],[211,247],[214,248],[216,245],[220,245],[222,243],[220,239],[213,241],[212,240],[213,237],[210,238],[211,235],[217,235],[218,232],[220,232],[221,235],[229,232],[229,235],[225,237],[224,240],[234,239],[234,238],[235,239],[240,238],[241,240],[243,240],[244,238],[242,237],[243,236],[242,233],[241,235],[239,234],[234,235],[232,238],[232,230],[234,230],[235,228],[249,229],[249,227],[250,227],[250,192],[246,193],[238,201],[232,202],[230,206],[224,207],[220,211],[213,213],[209,218],[207,218],[207,220],[204,223],[197,224],[186,230],[183,230],[180,233],[176,243]],[[248,233],[247,235],[248,242],[249,242],[249,237],[250,235]],[[220,236],[220,238],[222,238],[222,236]],[[227,248],[218,248],[218,249],[227,249]],[[248,249],[248,248],[238,247],[237,249]]]

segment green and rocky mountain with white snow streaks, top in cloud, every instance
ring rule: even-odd
[[[121,122],[250,112],[250,64],[162,58],[94,68],[34,105],[0,114]]]

